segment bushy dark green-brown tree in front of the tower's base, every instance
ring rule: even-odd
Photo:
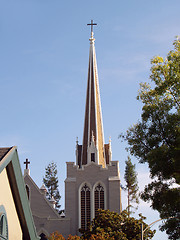
[[[140,215],[139,219],[129,217],[127,211],[121,214],[110,212],[109,210],[98,210],[97,216],[93,219],[87,230],[83,230],[83,239],[99,239],[93,236],[102,236],[100,239],[114,240],[135,240],[141,239],[141,225],[144,228],[148,225],[144,222],[145,217]],[[151,239],[155,231],[148,229],[144,239]]]

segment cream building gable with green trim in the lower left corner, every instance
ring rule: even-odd
[[[0,206],[6,211],[8,238],[38,239],[16,147],[0,148],[0,189]]]

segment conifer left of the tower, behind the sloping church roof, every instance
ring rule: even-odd
[[[52,198],[56,201],[56,209],[59,211],[61,205],[59,201],[61,196],[58,190],[58,177],[57,177],[57,165],[54,162],[48,164],[45,168],[45,177],[43,178],[43,182],[47,188],[47,198],[50,200]]]

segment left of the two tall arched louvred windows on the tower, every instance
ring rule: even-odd
[[[84,184],[81,188],[81,228],[86,229],[91,221],[91,192],[90,188]]]

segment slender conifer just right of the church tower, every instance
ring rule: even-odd
[[[139,203],[139,194],[138,194],[138,181],[137,181],[137,173],[135,171],[135,164],[133,165],[131,162],[131,158],[128,156],[127,161],[125,161],[125,174],[124,179],[126,181],[125,190],[127,191],[127,198],[128,198],[128,215],[130,215],[132,208],[132,203]]]

